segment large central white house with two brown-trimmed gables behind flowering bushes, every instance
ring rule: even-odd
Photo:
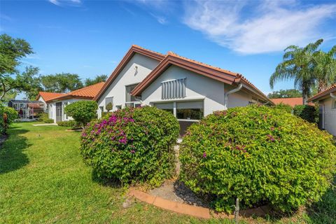
[[[99,117],[109,103],[113,111],[140,105],[170,111],[179,120],[181,134],[213,111],[253,103],[273,105],[239,73],[138,45],[127,51],[94,100]]]

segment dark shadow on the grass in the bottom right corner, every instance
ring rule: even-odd
[[[333,187],[327,190],[319,202],[307,209],[311,223],[336,223],[336,176]]]

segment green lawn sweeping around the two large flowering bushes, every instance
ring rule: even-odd
[[[80,157],[78,132],[66,127],[15,123],[0,149],[0,223],[231,223],[201,221],[130,203],[126,190],[102,183]],[[336,196],[330,190],[309,212],[274,223],[332,223]],[[265,219],[248,219],[267,223]]]

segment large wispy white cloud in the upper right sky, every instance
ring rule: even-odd
[[[302,6],[291,1],[196,1],[183,22],[236,52],[255,54],[304,45],[336,35],[320,28],[335,18],[336,4]]]

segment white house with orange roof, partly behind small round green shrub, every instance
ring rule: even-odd
[[[48,104],[49,118],[54,120],[55,123],[64,120],[73,120],[71,117],[66,116],[64,107],[80,100],[92,100],[99,90],[102,89],[103,85],[104,83],[97,83],[46,100],[45,103]]]

